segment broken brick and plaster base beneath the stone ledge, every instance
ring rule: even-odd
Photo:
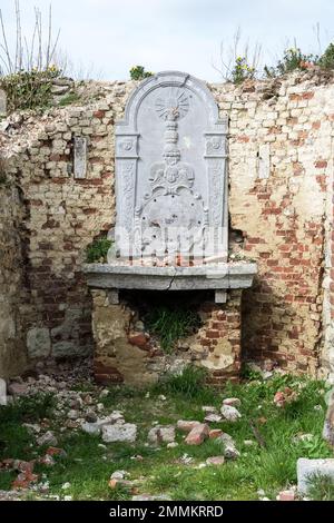
[[[212,384],[236,379],[240,371],[240,294],[233,290],[226,304],[215,304],[206,302],[202,293],[196,307],[200,327],[167,354],[157,337],[137,330],[137,307],[126,302],[116,305],[108,290],[94,289],[95,379],[105,385],[148,385],[189,363],[204,366]]]

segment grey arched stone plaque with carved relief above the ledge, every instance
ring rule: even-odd
[[[227,258],[227,119],[205,83],[160,72],[116,126],[116,247],[121,257]]]

